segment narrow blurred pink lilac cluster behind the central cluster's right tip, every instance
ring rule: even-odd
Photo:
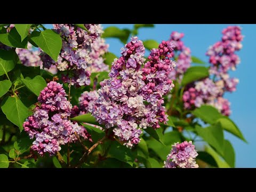
[[[177,57],[177,67],[173,70],[169,77],[174,80],[180,81],[183,77],[183,74],[191,65],[191,51],[189,47],[186,47],[181,41],[181,38],[184,37],[183,33],[178,33],[177,31],[173,31],[171,33],[170,41],[172,41],[175,45],[173,56]]]

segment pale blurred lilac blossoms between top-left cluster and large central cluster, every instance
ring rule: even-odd
[[[103,55],[108,52],[109,44],[105,43],[105,39],[99,37],[95,39],[92,43],[92,52],[90,53],[90,58],[92,60],[92,65],[88,67],[87,70],[91,73],[97,73],[101,71],[109,71],[108,65],[104,63]]]

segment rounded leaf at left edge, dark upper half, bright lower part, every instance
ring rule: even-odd
[[[18,59],[15,51],[0,50],[0,76],[11,71],[15,67]]]

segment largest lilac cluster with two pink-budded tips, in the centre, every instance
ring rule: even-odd
[[[100,82],[99,99],[92,115],[113,132],[127,147],[140,142],[141,129],[159,128],[166,123],[163,95],[173,88],[169,73],[175,67],[170,60],[174,45],[163,41],[151,50],[149,61],[142,68],[145,47],[138,37],[121,49],[122,56],[112,63],[109,79]]]

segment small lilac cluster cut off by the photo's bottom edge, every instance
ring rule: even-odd
[[[174,143],[172,150],[164,161],[165,168],[198,168],[196,157],[198,153],[192,141]]]

